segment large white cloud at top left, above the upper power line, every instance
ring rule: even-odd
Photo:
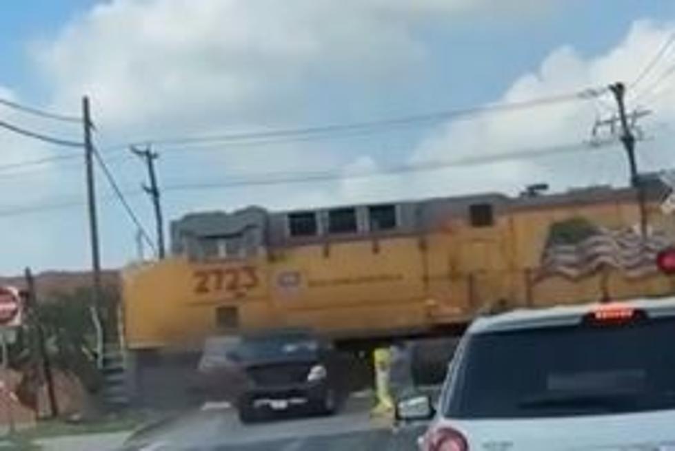
[[[305,109],[317,76],[396,85],[427,58],[429,21],[550,1],[117,0],[99,4],[34,55],[61,107],[94,98],[114,132],[263,125]],[[292,99],[292,101],[289,101]],[[283,106],[282,106],[283,105]],[[181,130],[183,129],[183,130]]]

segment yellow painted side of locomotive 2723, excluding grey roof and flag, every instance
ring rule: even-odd
[[[170,258],[133,266],[123,273],[125,343],[190,346],[214,333],[298,326],[368,337],[465,322],[500,300],[510,306],[598,300],[599,275],[528,282],[552,222],[573,216],[606,227],[638,221],[630,202],[539,208],[498,216],[493,227],[452,220],[427,235],[285,247],[250,260]],[[655,206],[650,223],[674,229]],[[238,277],[234,285],[232,277]],[[617,299],[675,288],[663,275],[626,280],[611,272],[607,280]]]

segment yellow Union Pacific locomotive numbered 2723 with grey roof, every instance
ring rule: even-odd
[[[250,207],[172,223],[172,257],[123,273],[128,350],[301,327],[336,340],[432,335],[498,306],[672,293],[663,185],[498,193],[303,211]]]

